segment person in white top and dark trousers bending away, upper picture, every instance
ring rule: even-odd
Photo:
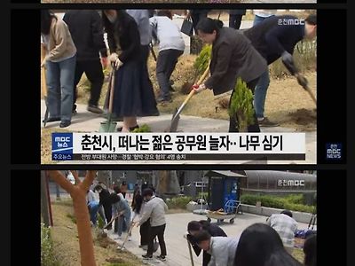
[[[159,11],[158,16],[150,18],[155,42],[159,43],[159,54],[156,60],[156,79],[159,83],[160,96],[157,101],[161,104],[172,101],[170,95],[170,76],[177,66],[177,59],[184,53],[185,42],[180,29],[169,18],[171,12]]]

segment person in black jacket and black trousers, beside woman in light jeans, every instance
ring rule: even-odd
[[[104,82],[101,64],[103,66],[107,64],[107,51],[99,12],[94,10],[72,10],[66,12],[63,20],[67,23],[77,50],[73,113],[76,113],[76,86],[80,82],[83,73],[86,74],[91,82],[91,97],[87,110],[92,113],[103,113],[98,105]],[[101,55],[101,63],[99,54]]]

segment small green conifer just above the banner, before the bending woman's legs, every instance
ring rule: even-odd
[[[248,132],[248,126],[254,123],[253,93],[248,89],[247,83],[237,79],[231,103],[229,115],[237,116],[240,132]]]

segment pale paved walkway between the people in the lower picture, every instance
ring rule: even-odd
[[[191,265],[190,261],[190,255],[188,252],[188,246],[187,246],[187,241],[184,239],[184,234],[186,232],[186,227],[187,223],[193,220],[206,220],[205,215],[194,215],[192,213],[182,213],[182,214],[172,214],[172,215],[166,215],[167,219],[167,226],[165,230],[165,243],[167,246],[167,261],[166,262],[159,262],[158,260],[154,260],[154,262],[151,262],[150,265],[168,265],[168,266],[186,266],[186,265]],[[221,225],[221,228],[225,231],[225,233],[229,237],[239,237],[241,235],[241,232],[247,228],[249,225],[253,223],[264,223],[266,220],[265,216],[260,216],[260,215],[251,215],[244,213],[243,215],[237,215],[235,218],[235,222],[233,224],[230,223],[223,223]],[[216,222],[215,220],[212,220],[212,223]],[[307,228],[308,224],[305,223],[298,223],[298,227],[300,229]],[[114,239],[117,235],[113,233],[113,231],[107,231],[108,236],[111,239]],[[123,235],[124,239],[125,235]],[[141,258],[142,254],[146,254],[146,251],[143,249],[139,248],[139,228],[134,227],[132,230],[132,240],[127,241],[126,244],[124,245],[125,248],[130,251],[132,254],[135,254],[138,256],[138,258]],[[119,245],[122,244],[122,240],[114,240],[116,241]],[[121,252],[121,251],[117,251]],[[154,253],[154,256],[160,254],[160,248],[156,253]],[[198,266],[201,265],[202,262],[202,254],[200,254],[199,257],[197,257],[193,253],[193,262],[194,265]]]

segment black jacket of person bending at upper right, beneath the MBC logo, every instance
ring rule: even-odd
[[[290,25],[295,20],[298,19],[289,15],[272,16],[243,33],[270,65],[284,51],[293,54],[296,43],[304,38],[304,25]]]

